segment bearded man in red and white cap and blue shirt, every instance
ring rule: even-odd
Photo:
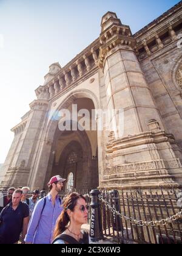
[[[50,179],[48,183],[50,193],[35,205],[25,236],[25,243],[50,244],[52,242],[53,230],[58,216],[62,212],[58,193],[61,191],[62,182],[65,180],[59,175]]]

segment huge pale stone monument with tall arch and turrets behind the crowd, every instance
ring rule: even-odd
[[[12,129],[0,189],[41,190],[54,175],[69,190],[182,186],[182,1],[135,34],[107,12],[99,37],[44,78]],[[60,110],[73,104],[112,115],[103,129],[98,115],[95,130],[59,129]]]

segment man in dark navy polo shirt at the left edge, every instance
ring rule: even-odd
[[[15,190],[12,202],[0,214],[0,244],[15,244],[27,233],[29,224],[29,207],[21,202],[22,190]]]

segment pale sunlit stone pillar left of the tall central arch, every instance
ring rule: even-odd
[[[22,120],[22,125],[19,125],[17,129],[16,127],[12,129],[16,135],[5,163],[0,188],[30,185],[48,105],[49,102],[45,100],[33,101],[25,121]]]

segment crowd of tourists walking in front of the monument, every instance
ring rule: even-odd
[[[87,223],[87,204],[84,196],[71,193],[63,201],[58,194],[65,179],[53,176],[49,193],[30,188],[8,188],[0,198],[0,244],[83,244],[89,235],[81,230]]]

